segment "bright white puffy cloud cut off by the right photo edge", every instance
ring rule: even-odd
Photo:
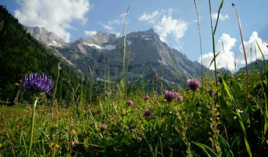
[[[268,58],[268,48],[267,48],[268,43],[264,42],[261,38],[259,38],[258,33],[256,31],[253,31],[249,40],[244,41],[247,63],[250,63],[251,61],[256,60],[256,57],[257,59],[262,59],[262,54],[258,48],[256,41],[258,42],[260,49],[263,52],[265,58],[266,59]],[[245,57],[244,57],[242,44],[240,45],[239,50],[241,52],[241,56],[239,56],[237,59],[238,63],[245,65]],[[256,50],[256,54],[255,54],[255,50]]]

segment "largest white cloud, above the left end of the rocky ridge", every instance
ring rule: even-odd
[[[15,17],[26,26],[45,27],[65,42],[69,42],[67,28],[72,20],[86,24],[89,0],[20,0],[21,9],[15,10]]]

